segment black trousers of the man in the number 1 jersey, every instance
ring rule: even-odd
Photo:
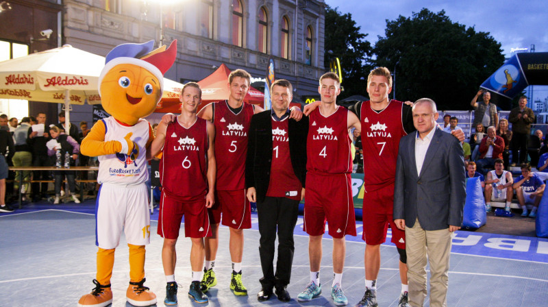
[[[299,201],[286,197],[266,197],[264,202],[257,203],[259,217],[259,255],[263,277],[260,279],[263,288],[283,287],[289,284],[295,242],[293,230],[297,224]],[[274,273],[274,252],[278,235],[278,257]]]

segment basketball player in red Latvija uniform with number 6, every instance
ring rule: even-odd
[[[181,114],[174,123],[160,123],[151,151],[155,156],[163,147],[160,160],[162,197],[158,215],[158,234],[164,238],[162,263],[166,275],[164,304],[177,305],[175,243],[184,215],[184,232],[190,237],[192,284],[188,295],[195,302],[206,303],[208,297],[200,289],[201,268],[205,247],[203,237],[211,236],[208,209],[214,204],[215,187],[215,128],[197,117],[201,89],[195,82],[183,86],[179,101]]]

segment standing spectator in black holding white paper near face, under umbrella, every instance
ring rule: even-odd
[[[36,121],[38,124],[46,124],[46,114],[38,113],[36,115]],[[27,144],[32,149],[32,166],[33,167],[49,167],[52,164],[50,163],[49,157],[47,155],[46,143],[49,140],[49,133],[47,132],[47,127],[45,126],[45,131],[38,135],[37,131],[32,131],[32,127],[29,127]],[[33,172],[34,180],[48,180],[49,172],[48,171],[34,171]],[[47,199],[47,182],[33,182],[32,183],[32,199],[33,201],[38,201],[41,198]]]

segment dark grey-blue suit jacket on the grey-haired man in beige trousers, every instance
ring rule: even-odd
[[[426,151],[421,173],[415,163],[416,132],[401,138],[394,189],[394,219],[411,228],[416,218],[424,230],[462,224],[466,199],[466,171],[460,142],[436,129]]]

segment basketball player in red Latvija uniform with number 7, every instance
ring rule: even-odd
[[[380,244],[386,241],[388,225],[392,228],[391,241],[399,253],[399,276],[401,279],[400,307],[408,306],[408,282],[406,267],[405,232],[392,227],[394,204],[394,180],[399,140],[415,131],[411,106],[388,99],[392,92],[392,76],[386,67],[378,67],[369,73],[367,93],[369,101],[360,101],[349,110],[355,112],[363,126],[362,149],[364,152],[364,252],[366,291],[356,307],[377,306],[377,275],[380,269]],[[412,103],[410,103],[412,104]],[[310,106],[310,107],[309,107]],[[305,108],[308,114],[319,103]],[[464,140],[462,130],[451,134]],[[310,160],[310,157],[309,157]]]

